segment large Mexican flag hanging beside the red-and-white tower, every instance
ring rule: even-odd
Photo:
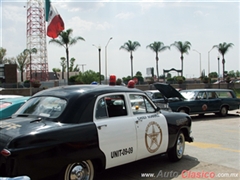
[[[57,38],[58,34],[64,30],[64,22],[50,0],[45,0],[45,17],[48,22],[47,36]]]

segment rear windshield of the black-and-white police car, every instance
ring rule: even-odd
[[[62,114],[66,105],[67,101],[58,97],[34,97],[27,101],[15,115],[36,115],[57,118]]]

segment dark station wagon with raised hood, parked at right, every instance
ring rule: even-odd
[[[239,109],[240,99],[230,89],[189,89],[177,91],[169,84],[155,83],[174,112],[187,114],[215,113],[226,116],[228,110]]]

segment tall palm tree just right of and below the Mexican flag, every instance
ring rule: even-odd
[[[60,46],[63,46],[66,50],[66,58],[67,58],[67,81],[69,81],[69,46],[77,43],[78,40],[85,41],[82,37],[72,37],[73,30],[67,29],[66,31],[61,31],[59,33],[58,39],[51,39],[49,43],[55,43]]]

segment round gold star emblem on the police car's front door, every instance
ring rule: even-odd
[[[156,122],[150,122],[145,131],[145,144],[150,153],[156,152],[162,143],[162,130]]]

